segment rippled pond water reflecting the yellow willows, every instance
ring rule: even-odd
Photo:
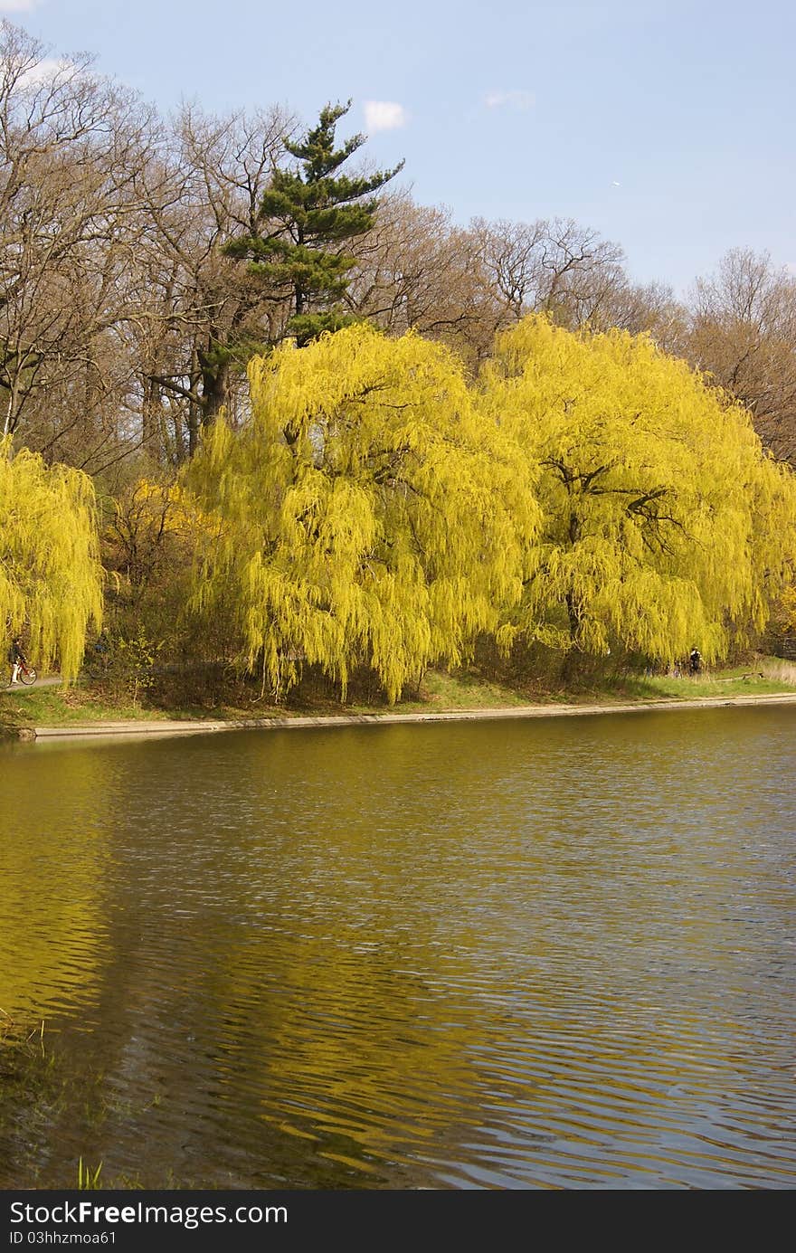
[[[793,1188],[792,708],[0,749],[0,1187]]]

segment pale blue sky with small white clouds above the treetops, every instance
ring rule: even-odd
[[[0,0],[163,113],[283,105],[420,204],[573,218],[687,296],[730,248],[796,273],[792,0]]]

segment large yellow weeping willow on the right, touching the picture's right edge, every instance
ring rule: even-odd
[[[671,660],[765,625],[795,551],[796,480],[748,415],[647,337],[530,317],[499,337],[481,403],[539,465],[540,543],[504,628]]]

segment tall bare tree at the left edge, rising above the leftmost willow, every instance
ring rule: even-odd
[[[1,430],[98,469],[129,445],[119,325],[152,113],[0,25]]]

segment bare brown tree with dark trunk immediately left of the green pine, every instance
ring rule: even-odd
[[[276,342],[288,317],[285,301],[226,246],[257,229],[292,125],[278,109],[213,118],[186,108],[162,164],[150,167],[139,269],[142,386],[149,426],[173,427],[177,460],[222,408],[234,417],[252,348]]]

